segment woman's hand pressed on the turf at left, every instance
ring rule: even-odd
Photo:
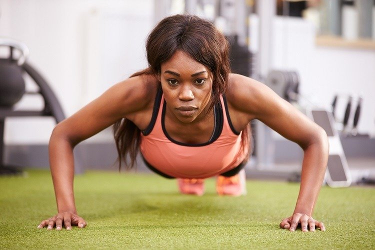
[[[72,225],[83,228],[86,224],[86,221],[82,217],[73,212],[59,212],[48,219],[42,220],[37,228],[46,226],[48,230],[52,230],[53,227],[56,227],[56,230],[61,230],[62,225],[64,225],[66,230],[70,230]]]

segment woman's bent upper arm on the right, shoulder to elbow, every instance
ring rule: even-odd
[[[241,109],[248,121],[258,119],[302,148],[323,133],[322,128],[265,84],[245,76],[233,78],[231,95],[236,95],[235,108]]]

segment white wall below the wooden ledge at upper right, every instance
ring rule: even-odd
[[[313,24],[301,18],[275,17],[272,31],[271,67],[296,70],[301,94],[316,106],[329,108],[341,94],[338,118],[347,95],[361,95],[358,131],[375,136],[375,50],[317,46]]]

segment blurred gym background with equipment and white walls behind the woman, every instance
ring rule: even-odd
[[[1,172],[47,169],[56,121],[144,68],[148,32],[175,13],[213,22],[230,41],[233,72],[326,129],[328,184],[374,182],[374,0],[0,0]],[[298,180],[297,144],[251,126],[247,177]],[[111,128],[77,145],[75,158],[77,173],[117,170]]]

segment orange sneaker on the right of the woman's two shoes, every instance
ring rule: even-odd
[[[225,177],[217,176],[216,192],[219,195],[240,196],[246,194],[246,174],[242,169],[236,175]]]

